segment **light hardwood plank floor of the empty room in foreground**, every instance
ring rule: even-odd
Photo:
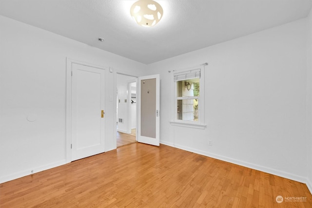
[[[307,197],[278,204],[276,196]],[[0,184],[1,208],[311,208],[307,186],[179,150],[135,143]]]

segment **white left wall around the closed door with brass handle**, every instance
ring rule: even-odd
[[[65,163],[66,57],[136,75],[146,65],[2,16],[0,28],[1,183]],[[105,73],[106,96],[114,97],[114,75]],[[109,151],[116,109],[106,100]],[[27,121],[31,114],[36,121]]]

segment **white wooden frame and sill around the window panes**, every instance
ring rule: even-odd
[[[200,69],[200,77],[199,77],[199,96],[198,96],[198,120],[197,121],[189,121],[189,120],[179,120],[177,119],[177,84],[175,81],[175,75],[177,74],[187,74],[188,72],[192,70]],[[185,79],[188,79],[186,77]],[[205,129],[206,124],[205,124],[205,70],[204,66],[201,67],[193,67],[185,70],[179,70],[179,71],[174,71],[172,73],[172,114],[171,114],[171,121],[170,124],[174,126],[182,126],[182,127],[191,127],[191,128],[196,128],[196,129]],[[193,96],[192,96],[193,97]],[[196,97],[196,96],[194,96]],[[179,97],[181,98],[181,97]],[[185,99],[189,99],[190,97],[185,97]]]

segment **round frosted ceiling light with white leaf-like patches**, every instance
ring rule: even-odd
[[[130,14],[137,24],[151,27],[161,19],[163,10],[154,0],[138,0],[131,6]]]

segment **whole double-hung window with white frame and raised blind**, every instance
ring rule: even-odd
[[[173,125],[205,128],[203,74],[201,68],[174,73]]]

